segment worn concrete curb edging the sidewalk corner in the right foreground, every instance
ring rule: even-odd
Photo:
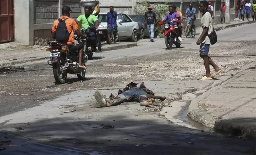
[[[237,77],[242,75],[245,72],[245,70],[248,70],[252,66],[255,67],[256,62],[252,62],[251,64],[248,64],[248,65],[240,68],[239,71],[231,71],[231,72],[227,73],[227,75],[228,74],[229,75],[233,74],[234,76],[222,76],[222,77],[219,78],[221,80],[218,80],[217,82],[214,82],[211,85],[212,87],[210,89],[209,88],[204,89],[204,93],[202,95],[198,96],[195,100],[191,101],[190,106],[188,107],[187,116],[190,119],[192,119],[193,121],[195,121],[197,123],[200,123],[200,124],[202,124],[206,127],[209,127],[209,128],[215,128],[217,130],[222,130],[222,131],[225,131],[225,132],[233,132],[234,129],[238,129],[239,126],[237,126],[233,123],[225,122],[225,120],[223,120],[223,119],[213,117],[212,115],[210,115],[209,112],[201,110],[198,107],[198,104],[201,100],[203,100],[207,96],[214,93],[217,89],[221,88],[223,85],[235,80]],[[221,82],[219,82],[219,81],[221,81]],[[215,86],[215,85],[217,85],[217,86]],[[250,128],[248,127],[248,129],[247,128],[246,129],[248,131],[252,132],[252,129],[250,129]],[[255,135],[256,135],[256,129],[254,129],[254,130],[255,130],[254,132],[255,132]]]

